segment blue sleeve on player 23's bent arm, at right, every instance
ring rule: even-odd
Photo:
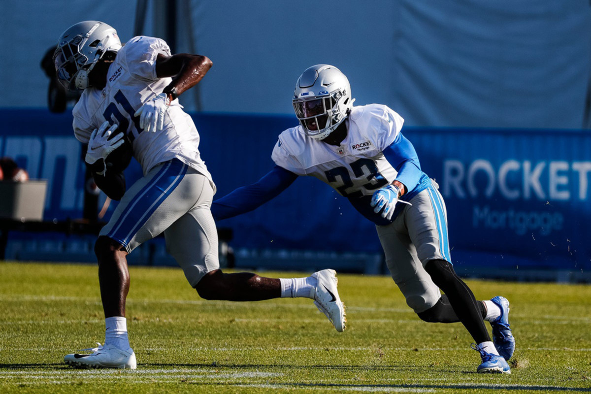
[[[392,167],[398,171],[396,180],[406,186],[407,193],[413,191],[423,175],[413,144],[402,133],[398,133],[394,142],[382,153]]]

